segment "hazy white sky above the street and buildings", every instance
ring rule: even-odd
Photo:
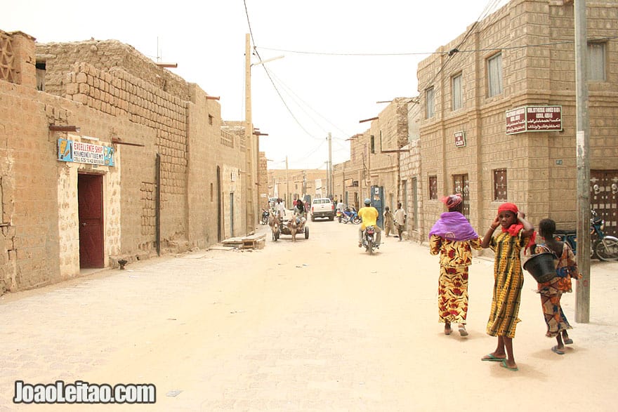
[[[359,120],[379,114],[385,104],[377,101],[418,95],[418,63],[504,4],[22,0],[5,8],[0,29],[41,43],[93,37],[130,44],[153,60],[178,63],[172,72],[221,96],[223,119],[242,120],[244,38],[251,25],[262,60],[285,56],[251,69],[253,122],[268,133],[260,149],[272,160],[269,167],[285,168],[287,156],[289,168],[326,168],[329,132],[333,162],[346,161],[346,138],[369,128]]]

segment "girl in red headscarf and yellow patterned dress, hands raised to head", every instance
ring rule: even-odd
[[[494,236],[494,231],[501,231]],[[525,220],[525,215],[512,203],[503,203],[498,215],[482,239],[482,248],[494,251],[494,291],[492,307],[487,321],[487,335],[497,336],[494,352],[481,358],[483,361],[499,361],[500,366],[518,371],[513,355],[513,338],[521,301],[524,277],[520,251],[534,242],[534,227]]]

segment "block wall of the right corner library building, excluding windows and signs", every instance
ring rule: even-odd
[[[616,51],[612,40],[618,25],[614,1],[588,4],[589,38],[609,39],[607,81],[589,83],[591,169],[616,169],[618,87]],[[613,34],[612,34],[613,33]],[[451,190],[452,175],[470,178],[471,222],[487,227],[502,200],[493,199],[493,173],[507,169],[508,201],[537,222],[551,215],[558,224],[574,221],[576,150],[574,102],[574,18],[572,2],[513,0],[465,34],[438,48],[419,64],[423,120],[422,180],[438,176],[438,198]],[[461,44],[461,45],[460,45]],[[534,46],[534,45],[551,46]],[[475,53],[447,51],[458,46]],[[487,95],[487,58],[502,54],[504,90]],[[445,63],[447,63],[445,65]],[[444,67],[440,70],[440,67]],[[452,77],[463,76],[463,108],[452,110]],[[427,88],[435,91],[435,117],[426,119]],[[561,105],[562,132],[506,135],[505,112],[524,105]],[[466,133],[466,147],[454,146],[453,133]],[[423,198],[428,199],[428,187]],[[442,211],[438,200],[425,204],[425,227]]]

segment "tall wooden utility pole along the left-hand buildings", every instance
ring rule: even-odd
[[[246,234],[255,230],[256,214],[254,213],[254,130],[251,119],[251,36],[244,36],[244,135],[245,135],[245,175],[246,175]],[[257,168],[256,168],[257,169]]]

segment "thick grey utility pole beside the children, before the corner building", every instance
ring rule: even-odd
[[[588,40],[586,1],[574,1],[575,106],[577,109],[577,267],[582,277],[575,293],[575,321],[590,321],[590,127],[588,118]]]

